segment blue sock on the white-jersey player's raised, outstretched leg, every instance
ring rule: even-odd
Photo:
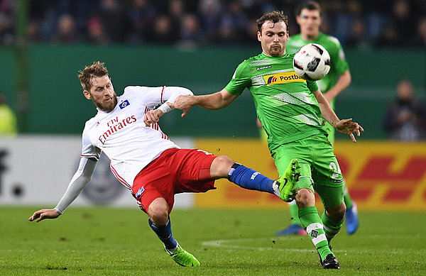
[[[228,173],[228,180],[245,189],[255,189],[257,191],[275,194],[273,192],[274,180],[270,180],[265,175],[256,172],[256,170],[252,170],[239,163],[232,165]]]

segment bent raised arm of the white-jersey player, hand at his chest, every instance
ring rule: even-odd
[[[184,87],[164,87],[162,93],[162,98],[164,100],[163,104],[158,106],[157,109],[148,111],[145,116],[143,116],[143,122],[146,126],[151,126],[151,123],[157,123],[160,120],[160,117],[166,112],[175,109],[170,104],[173,104],[178,96],[194,95],[190,89]]]

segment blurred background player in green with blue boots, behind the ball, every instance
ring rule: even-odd
[[[296,21],[300,26],[300,33],[291,35],[288,39],[285,50],[288,53],[296,53],[297,50],[307,43],[317,43],[322,45],[331,57],[330,71],[324,78],[317,81],[325,99],[329,101],[334,110],[334,98],[339,95],[351,83],[351,73],[349,65],[345,60],[342,45],[337,38],[320,32],[322,23],[322,12],[320,4],[315,1],[305,1],[296,9]],[[324,130],[327,131],[328,140],[334,146],[334,128],[324,122]],[[348,189],[344,189],[344,203],[346,204],[346,231],[350,235],[356,232],[359,226],[356,204],[351,200]],[[302,224],[297,219],[297,205],[290,202],[290,214],[294,218],[293,224],[290,224],[277,235],[289,235],[303,233]]]

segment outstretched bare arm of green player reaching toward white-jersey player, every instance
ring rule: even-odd
[[[200,106],[203,109],[217,110],[223,109],[226,106],[229,106],[234,99],[236,99],[238,95],[231,94],[226,91],[226,89],[222,89],[219,92],[207,95],[199,95],[199,96],[178,96],[173,104],[169,104],[173,106],[175,109],[182,110],[182,118],[185,117],[187,112],[192,108],[192,106]]]

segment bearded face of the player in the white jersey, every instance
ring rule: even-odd
[[[87,99],[92,99],[99,110],[109,112],[117,105],[117,95],[114,92],[111,79],[107,75],[94,77],[90,91],[84,91]]]

